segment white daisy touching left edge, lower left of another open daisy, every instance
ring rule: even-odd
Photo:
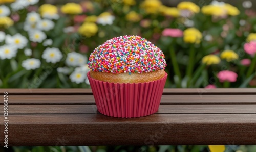
[[[17,48],[10,45],[0,46],[0,59],[11,59],[16,57]]]

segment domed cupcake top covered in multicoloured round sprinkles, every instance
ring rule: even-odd
[[[94,49],[89,68],[108,73],[146,73],[166,67],[163,52],[140,36],[112,38]]]

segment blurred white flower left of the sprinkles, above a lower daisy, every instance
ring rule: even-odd
[[[82,54],[76,52],[69,53],[66,59],[66,63],[69,66],[81,66],[86,64],[86,62],[86,56],[83,56]]]

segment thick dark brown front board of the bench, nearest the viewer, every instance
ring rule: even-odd
[[[255,125],[256,114],[12,115],[8,140],[12,146],[255,144]]]

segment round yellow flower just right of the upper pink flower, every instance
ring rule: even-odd
[[[195,28],[188,28],[183,32],[183,40],[186,43],[200,43],[202,33]]]

